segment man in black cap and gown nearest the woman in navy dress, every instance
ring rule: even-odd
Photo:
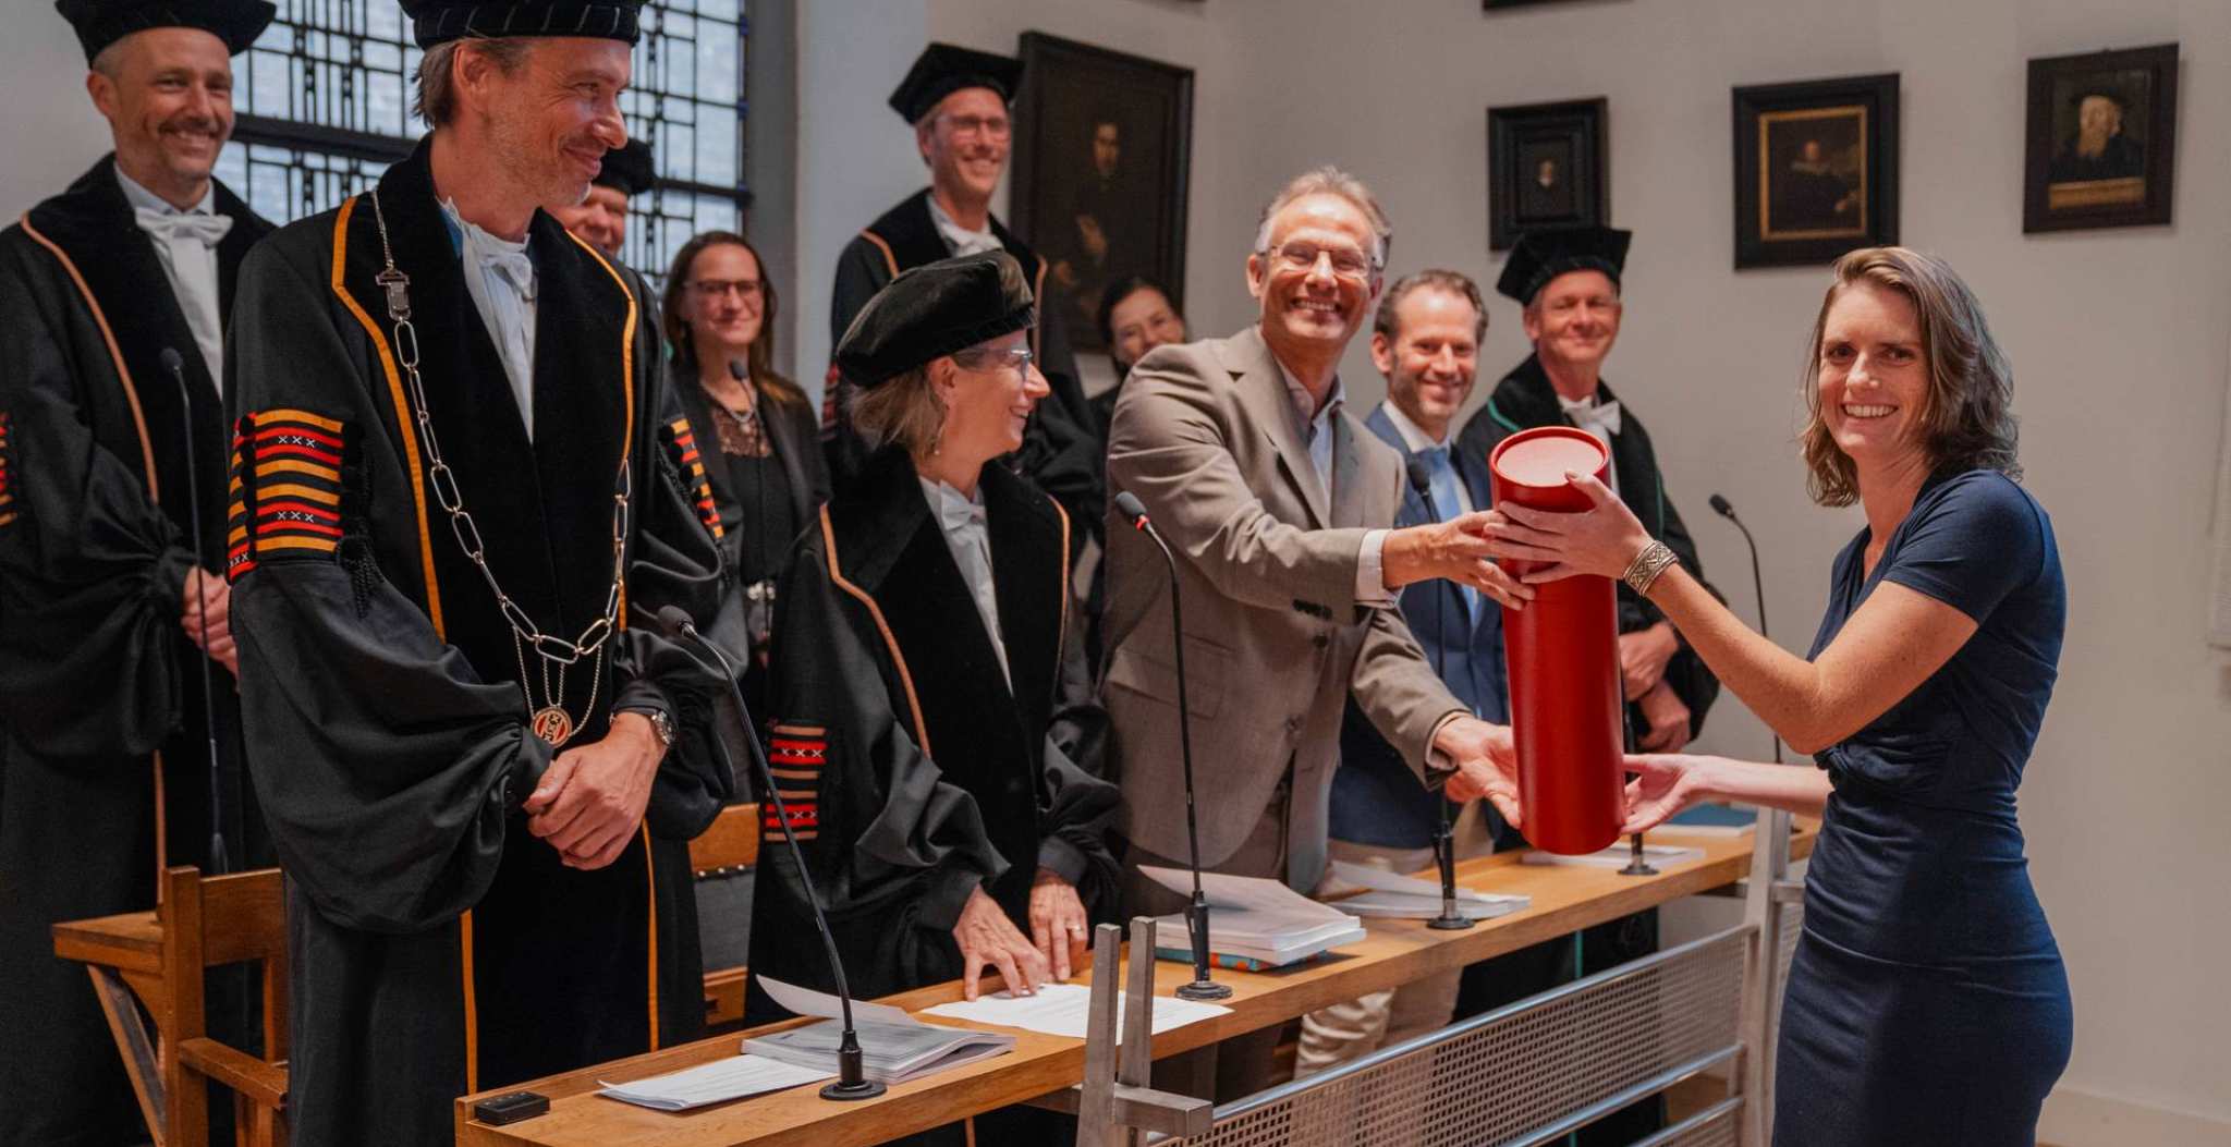
[[[1651,538],[1673,549],[1689,574],[1704,578],[1696,542],[1682,524],[1658,471],[1651,435],[1604,384],[1604,357],[1620,337],[1624,301],[1620,272],[1633,232],[1564,228],[1526,232],[1510,248],[1495,290],[1524,306],[1522,321],[1535,353],[1504,375],[1488,404],[1457,435],[1457,449],[1486,460],[1495,446],[1533,426],[1580,426],[1611,451],[1620,500],[1642,518]],[[1704,710],[1720,696],[1720,678],[1704,667],[1673,625],[1633,589],[1620,587],[1620,676],[1626,723],[1644,752],[1678,752],[1704,727]],[[1577,948],[1577,951],[1575,951]],[[1513,953],[1466,971],[1457,1015],[1522,1000],[1658,951],[1658,913],[1635,913]],[[1582,1143],[1631,1143],[1658,1127],[1662,1100],[1644,1100],[1582,1131]]]

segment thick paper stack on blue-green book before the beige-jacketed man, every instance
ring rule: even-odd
[[[1191,873],[1180,868],[1142,866],[1140,873],[1187,897],[1194,893]],[[1203,873],[1200,893],[1209,902],[1209,951],[1225,966],[1283,968],[1363,939],[1361,919],[1319,904],[1285,881]],[[1191,960],[1182,913],[1158,917],[1153,931],[1156,955]]]

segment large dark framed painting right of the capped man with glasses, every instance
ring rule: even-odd
[[[1046,259],[1046,299],[1078,350],[1100,344],[1100,295],[1145,274],[1185,310],[1194,69],[1022,33],[1015,232]]]

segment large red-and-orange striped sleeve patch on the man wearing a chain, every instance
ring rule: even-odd
[[[330,558],[341,542],[348,428],[308,411],[243,415],[232,437],[225,576],[268,558]]]

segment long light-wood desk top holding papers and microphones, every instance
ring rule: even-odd
[[[1655,877],[1622,877],[1613,868],[1526,866],[1515,852],[1479,857],[1457,868],[1464,886],[1484,893],[1522,893],[1533,906],[1461,933],[1437,933],[1421,919],[1372,919],[1361,944],[1332,960],[1276,973],[1218,971],[1232,984],[1229,1015],[1187,1024],[1153,1038],[1153,1056],[1167,1058],[1281,1024],[1341,1000],[1461,968],[1591,924],[1617,919],[1709,888],[1742,879],[1751,866],[1751,835],[1682,837],[1660,832],[1660,844],[1687,844],[1704,859],[1667,866]],[[1809,826],[1791,835],[1791,857],[1812,850]],[[1156,993],[1169,995],[1191,980],[1185,964],[1156,964]],[[1078,982],[1089,982],[1078,975]],[[906,1011],[959,1000],[959,982],[933,984],[890,995],[883,1002]],[[926,1015],[924,1022],[962,1026]],[[770,1024],[770,1029],[794,1026]],[[1075,1085],[1084,1073],[1084,1040],[1015,1031],[1015,1049],[926,1080],[892,1087],[866,1102],[830,1102],[812,1087],[776,1091],[689,1114],[651,1111],[596,1096],[598,1080],[625,1082],[734,1056],[738,1035],[718,1035],[685,1047],[634,1056],[585,1071],[482,1091],[457,1100],[460,1147],[854,1147],[953,1122],[977,1111],[1024,1102]],[[473,1102],[502,1091],[540,1091],[551,1111],[511,1127],[473,1122]]]

